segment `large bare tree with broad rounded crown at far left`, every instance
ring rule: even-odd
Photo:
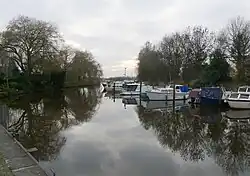
[[[22,72],[41,72],[44,60],[51,61],[62,38],[48,22],[19,16],[9,22],[1,36],[1,45]]]

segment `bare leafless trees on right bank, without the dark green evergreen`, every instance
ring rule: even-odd
[[[147,45],[141,51],[145,53],[146,48]],[[232,71],[236,70],[237,81],[246,82],[248,77],[250,78],[250,69],[248,69],[250,68],[250,22],[241,17],[231,20],[218,33],[211,32],[206,27],[195,26],[187,27],[182,32],[165,35],[153,50],[158,51],[161,59],[164,60],[165,67],[161,68],[165,70],[151,69],[158,70],[158,75],[164,73],[167,79],[161,79],[161,81],[190,82],[201,79],[200,77],[206,74],[204,70],[208,70],[211,59],[214,61],[214,66],[216,62],[223,63],[221,68],[225,69],[222,71],[218,66],[218,71],[210,67],[209,69],[214,69],[211,71],[214,76],[211,77],[221,79],[223,72],[227,72],[226,75],[230,76],[234,75]],[[143,56],[139,54],[138,59],[139,66],[142,67],[140,62]],[[154,61],[157,62],[157,58]],[[230,69],[228,66],[235,69]],[[140,72],[139,68],[138,72]],[[140,68],[140,70],[143,69]],[[151,73],[148,75],[150,76]]]

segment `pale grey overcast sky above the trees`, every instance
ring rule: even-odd
[[[219,30],[238,15],[250,19],[249,0],[0,0],[0,27],[17,15],[54,22],[67,43],[90,50],[105,76],[136,74],[147,41],[204,25]]]

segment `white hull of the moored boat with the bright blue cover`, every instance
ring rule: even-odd
[[[146,92],[150,101],[170,101],[173,100],[173,94],[162,92]],[[175,100],[187,100],[187,93],[176,93]]]

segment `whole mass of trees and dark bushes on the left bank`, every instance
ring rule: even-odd
[[[68,46],[49,22],[19,16],[0,32],[1,92],[58,90],[96,85],[100,64],[89,51]]]

